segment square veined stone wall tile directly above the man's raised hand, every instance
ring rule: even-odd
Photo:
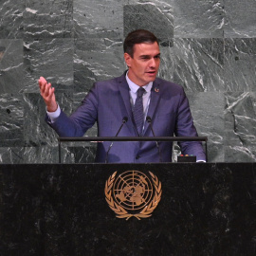
[[[40,39],[24,45],[24,92],[39,92],[38,79],[43,76],[56,90],[73,85],[73,39]]]

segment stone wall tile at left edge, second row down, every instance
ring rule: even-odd
[[[17,93],[24,86],[23,41],[0,39],[0,93]]]

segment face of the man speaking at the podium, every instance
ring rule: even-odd
[[[158,44],[137,44],[134,46],[134,57],[124,53],[124,60],[129,67],[128,77],[139,86],[155,81],[160,64]]]

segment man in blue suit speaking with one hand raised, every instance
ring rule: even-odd
[[[128,71],[119,78],[96,82],[69,118],[57,104],[54,88],[41,77],[39,86],[46,102],[47,123],[60,137],[82,137],[97,122],[98,136],[114,137],[122,120],[127,119],[119,137],[152,137],[152,129],[146,121],[146,117],[150,117],[156,137],[197,136],[183,88],[156,78],[160,50],[155,35],[148,30],[135,30],[128,34],[123,48]],[[137,97],[140,91],[141,96]],[[173,143],[158,145],[159,150],[155,141],[114,142],[108,162],[159,162],[160,158],[171,162]],[[185,141],[180,146],[183,154],[196,155],[197,160],[205,161],[201,143]],[[109,147],[110,142],[98,143],[97,162],[105,161]]]

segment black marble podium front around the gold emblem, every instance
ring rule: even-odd
[[[256,255],[255,163],[0,166],[0,255]],[[114,172],[162,184],[152,217],[119,219]]]

